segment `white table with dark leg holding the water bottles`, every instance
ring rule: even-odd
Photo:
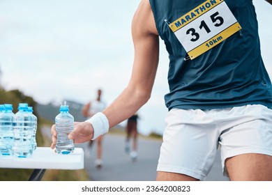
[[[70,155],[59,155],[48,147],[38,147],[31,157],[0,157],[0,168],[34,169],[29,180],[41,180],[46,169],[84,169],[84,151],[75,148]]]

